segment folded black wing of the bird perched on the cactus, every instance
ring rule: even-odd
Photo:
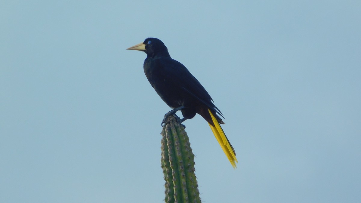
[[[169,57],[160,57],[156,63],[161,68],[164,78],[170,78],[175,86],[181,87],[222,116],[222,112],[213,104],[213,99],[208,92],[183,64]]]

